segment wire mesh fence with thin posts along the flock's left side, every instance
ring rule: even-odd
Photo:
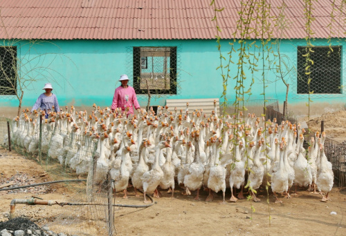
[[[68,235],[113,235],[113,188],[109,169],[100,167],[95,158],[100,155],[98,137],[73,127],[60,129],[48,119],[39,126],[39,118],[1,118],[0,140],[6,148],[7,121],[11,125],[12,149],[41,164],[51,180],[84,180],[51,185],[66,190],[66,197],[55,201],[46,217],[40,217],[37,223]]]

